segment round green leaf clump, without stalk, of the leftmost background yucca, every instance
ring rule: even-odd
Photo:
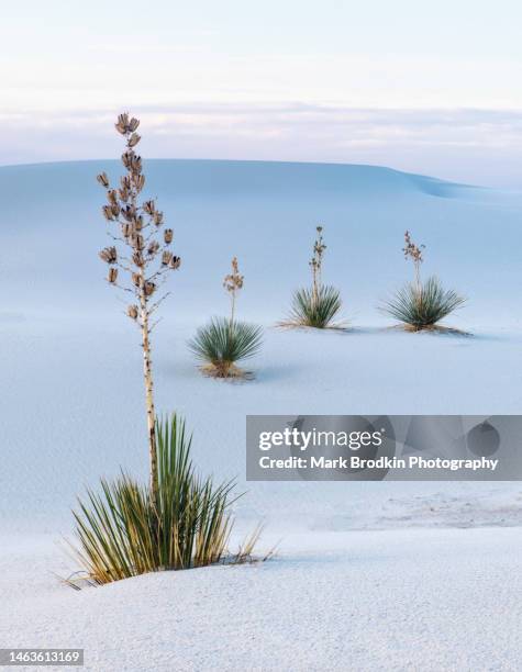
[[[226,377],[233,365],[259,351],[262,337],[260,326],[213,317],[188,345],[197,359],[214,367],[218,376]]]

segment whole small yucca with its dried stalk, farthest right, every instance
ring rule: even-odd
[[[381,309],[412,332],[442,329],[438,323],[466,302],[457,292],[445,290],[434,276],[422,281],[420,267],[423,261],[423,249],[424,245],[417,246],[407,231],[403,253],[406,259],[410,258],[413,261],[414,282],[408,282],[398,290]]]

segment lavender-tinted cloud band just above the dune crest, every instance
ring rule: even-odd
[[[522,110],[382,109],[311,103],[130,105],[143,153],[160,158],[378,163],[513,184]],[[118,156],[119,110],[0,113],[0,164]],[[506,170],[499,166],[506,160]],[[484,161],[478,165],[477,161]],[[488,172],[489,170],[489,172]]]

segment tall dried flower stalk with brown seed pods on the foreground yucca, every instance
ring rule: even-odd
[[[168,295],[158,296],[158,289],[165,276],[179,268],[180,258],[170,249],[173,229],[163,228],[164,215],[155,200],[141,200],[145,176],[142,158],[134,150],[141,139],[136,133],[138,125],[137,119],[130,119],[127,113],[120,114],[115,128],[125,141],[121,157],[125,173],[115,188],[111,187],[105,172],[97,178],[107,193],[102,213],[110,225],[108,233],[112,240],[109,247],[101,250],[100,258],[109,266],[109,283],[130,293],[135,300],[126,312],[140,328],[142,338],[149,481],[153,501],[157,505],[158,466],[151,344],[151,333],[155,325],[152,324],[152,316]]]

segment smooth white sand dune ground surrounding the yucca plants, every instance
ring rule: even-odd
[[[244,417],[520,413],[522,198],[367,166],[146,163],[182,257],[155,336],[157,405],[186,416],[202,469],[248,490],[240,529],[265,519],[282,542],[264,565],[78,594],[49,573],[71,569],[52,541],[75,496],[120,466],[146,475],[138,335],[97,258],[101,169],[119,168],[0,168],[2,646],[85,646],[99,671],[520,669],[521,484],[245,483]],[[273,327],[308,281],[318,223],[347,334]],[[469,298],[449,324],[474,338],[384,329],[379,299],[411,273],[406,228],[423,271]],[[186,347],[226,312],[233,255],[240,315],[266,326],[240,384],[200,377]]]

